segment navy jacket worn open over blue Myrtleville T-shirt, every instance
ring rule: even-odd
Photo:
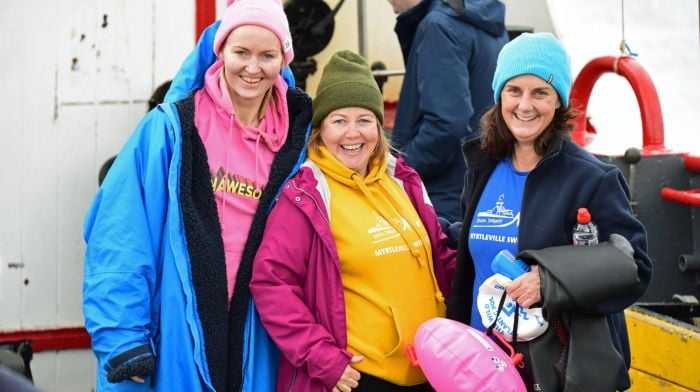
[[[469,225],[481,193],[498,162],[480,149],[480,141],[473,139],[462,147],[467,162],[462,196],[465,216],[459,235],[457,269],[447,302],[447,316],[464,323],[469,323],[474,284],[474,261],[467,242]],[[617,233],[634,248],[639,285],[629,295],[599,303],[595,307],[597,314],[606,315],[613,345],[629,368],[630,347],[623,311],[644,294],[651,281],[652,264],[647,255],[646,231],[632,215],[629,190],[620,170],[599,161],[569,140],[553,143],[526,180],[520,210],[518,248],[522,252],[571,245],[579,207],[590,211],[598,225],[600,241],[606,241],[611,234]],[[605,274],[605,271],[600,273]],[[524,350],[527,350],[529,343],[522,345],[525,346]],[[626,369],[623,369],[618,377],[618,389],[626,390],[629,387],[630,379]]]

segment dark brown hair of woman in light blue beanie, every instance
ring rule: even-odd
[[[554,118],[547,128],[535,140],[535,152],[542,156],[547,151],[550,143],[564,136],[574,129],[575,125],[571,120],[579,116],[576,109],[561,107],[554,112]],[[489,109],[481,117],[481,148],[487,154],[495,158],[505,158],[513,155],[515,149],[515,137],[506,125],[501,111],[501,101]]]

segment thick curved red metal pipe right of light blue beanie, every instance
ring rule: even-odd
[[[582,115],[576,120],[572,138],[581,146],[588,143],[586,112],[595,82],[605,73],[614,72],[630,83],[637,97],[642,116],[642,154],[656,155],[668,152],[664,145],[664,120],[656,87],[649,74],[632,57],[604,56],[591,60],[576,77],[571,88],[571,101]]]

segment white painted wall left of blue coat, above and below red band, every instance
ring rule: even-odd
[[[193,12],[191,0],[3,1],[0,329],[83,324],[82,221],[99,167],[192,48]],[[32,362],[46,391],[91,391],[94,366],[88,350]]]

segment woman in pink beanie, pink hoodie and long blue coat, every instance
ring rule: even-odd
[[[280,76],[294,51],[279,0],[229,4],[203,87],[144,118],[85,219],[99,391],[274,389],[248,283],[311,100]]]

